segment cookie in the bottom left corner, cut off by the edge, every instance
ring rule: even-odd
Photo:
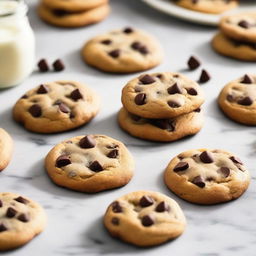
[[[28,243],[46,226],[42,207],[27,197],[0,193],[0,251]]]

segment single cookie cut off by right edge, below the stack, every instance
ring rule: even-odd
[[[234,121],[256,125],[256,75],[244,75],[228,83],[220,92],[218,103]]]

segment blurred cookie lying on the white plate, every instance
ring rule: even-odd
[[[184,8],[204,13],[218,14],[237,7],[236,0],[174,0]]]

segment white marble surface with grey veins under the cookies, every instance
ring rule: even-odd
[[[228,81],[255,71],[255,64],[229,60],[215,54],[210,40],[215,30],[188,24],[150,9],[138,0],[112,0],[113,11],[104,22],[87,28],[68,30],[50,27],[35,13],[36,1],[30,1],[30,21],[37,38],[37,57],[49,61],[62,58],[66,71],[34,73],[20,86],[0,91],[0,126],[15,140],[11,164],[0,174],[1,191],[13,191],[40,202],[48,215],[48,226],[40,236],[18,250],[3,255],[175,255],[175,256],[253,256],[256,251],[255,157],[256,131],[223,116],[216,105],[220,89]],[[121,131],[116,113],[121,106],[120,93],[133,75],[101,73],[83,64],[80,48],[98,33],[123,26],[148,30],[165,49],[164,63],[156,71],[182,71],[188,57],[198,56],[213,79],[203,85],[207,100],[205,126],[196,136],[169,144],[137,140]],[[197,79],[199,70],[186,72]],[[17,125],[11,116],[16,100],[30,88],[46,81],[74,79],[86,82],[102,98],[99,115],[78,130],[58,135],[38,135]],[[87,195],[52,184],[43,168],[43,159],[53,145],[63,139],[87,133],[102,133],[127,144],[136,161],[136,172],[125,187]],[[163,171],[176,154],[191,148],[223,148],[238,155],[252,174],[249,190],[238,200],[217,205],[197,206],[180,200],[163,183]],[[111,238],[102,225],[106,207],[125,193],[149,189],[176,199],[188,220],[186,232],[178,239],[151,249],[138,249]]]

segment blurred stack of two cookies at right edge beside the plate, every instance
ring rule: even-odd
[[[256,61],[256,12],[223,17],[212,46],[220,54],[243,61]]]

